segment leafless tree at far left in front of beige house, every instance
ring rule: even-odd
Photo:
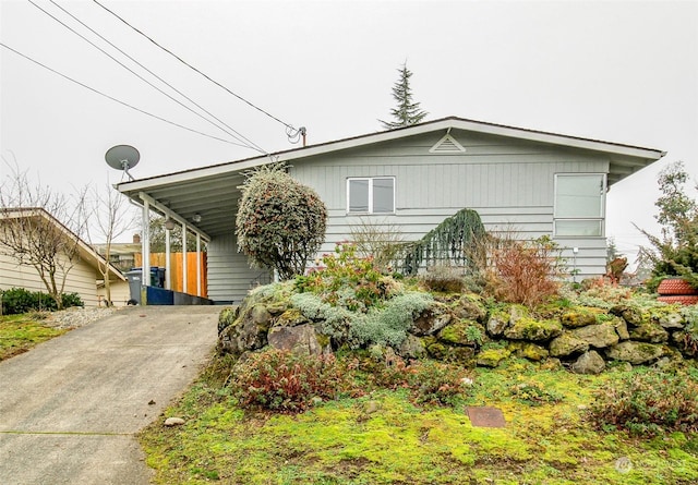
[[[63,308],[69,272],[80,259],[85,190],[72,199],[39,183],[3,157],[9,175],[0,182],[0,252],[36,269],[48,294]]]

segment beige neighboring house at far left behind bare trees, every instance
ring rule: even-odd
[[[60,221],[41,208],[17,208],[0,211],[0,225],[8,223],[10,219],[35,218],[41,223],[52,225],[62,232],[65,238],[77,240],[79,257],[74,259],[73,267],[68,271],[63,293],[77,293],[85,306],[97,306],[104,299],[104,279],[97,267],[97,262],[104,264],[89,245],[72,233]],[[28,264],[21,264],[2,242],[0,231],[0,290],[10,288],[24,288],[31,291],[47,292],[38,271]],[[111,298],[115,304],[122,305],[129,300],[129,284],[125,277],[113,266],[109,266],[111,282]],[[62,274],[57,275],[62,277]]]

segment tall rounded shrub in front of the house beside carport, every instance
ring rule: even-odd
[[[279,165],[253,172],[241,189],[236,220],[240,251],[253,266],[276,269],[281,279],[302,275],[325,240],[325,204]]]

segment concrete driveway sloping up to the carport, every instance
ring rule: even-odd
[[[219,312],[129,307],[0,362],[0,484],[147,484],[134,434],[196,376]]]

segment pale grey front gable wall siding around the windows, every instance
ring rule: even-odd
[[[450,135],[465,153],[430,154],[444,134],[294,161],[290,173],[315,189],[328,208],[321,252],[350,240],[352,229],[365,222],[399,227],[404,241],[416,241],[465,207],[477,210],[491,232],[515,232],[520,239],[552,235],[555,174],[609,171],[609,160],[593,153],[458,130]],[[395,214],[347,215],[347,178],[380,175],[396,178]],[[580,247],[577,267],[589,276],[605,272],[604,238]]]

